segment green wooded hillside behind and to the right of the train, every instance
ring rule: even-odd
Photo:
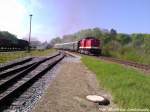
[[[115,29],[100,28],[85,29],[74,34],[56,37],[50,44],[78,41],[85,37],[95,37],[101,40],[102,55],[150,64],[150,34],[117,33]]]

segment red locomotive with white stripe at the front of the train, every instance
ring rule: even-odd
[[[79,41],[79,52],[85,54],[101,54],[101,42],[94,37],[87,37]]]

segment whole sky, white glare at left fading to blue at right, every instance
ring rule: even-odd
[[[81,29],[150,33],[150,0],[0,0],[0,30],[50,41]]]

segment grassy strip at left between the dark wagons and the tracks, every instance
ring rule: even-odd
[[[27,51],[0,53],[0,63],[5,63],[7,61],[23,58],[26,56],[47,56],[53,52],[55,52],[54,49],[48,49],[43,51],[35,50],[35,51],[31,51],[30,53],[28,53]]]

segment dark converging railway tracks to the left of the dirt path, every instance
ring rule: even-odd
[[[28,92],[28,88],[46,74],[53,66],[64,58],[63,53],[57,53],[51,57],[27,58],[25,60],[9,64],[0,68],[0,111],[4,111],[9,106],[23,105],[33,92]]]

